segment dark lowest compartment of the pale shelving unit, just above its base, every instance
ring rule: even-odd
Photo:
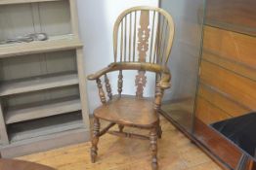
[[[84,128],[81,113],[71,113],[45,119],[21,122],[10,127],[11,142]]]

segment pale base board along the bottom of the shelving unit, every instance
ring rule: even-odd
[[[2,157],[13,158],[30,153],[45,152],[67,145],[87,142],[89,140],[90,131],[85,128],[80,128],[24,140],[8,145],[7,147],[0,147],[0,153],[2,154]]]

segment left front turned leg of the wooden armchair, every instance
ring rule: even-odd
[[[98,143],[100,136],[100,120],[98,118],[94,118],[94,126],[93,126],[93,139],[92,139],[92,148],[91,148],[91,160],[94,163],[96,161],[97,152],[98,152]]]

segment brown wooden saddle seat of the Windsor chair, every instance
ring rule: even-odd
[[[94,111],[94,116],[117,124],[139,127],[151,127],[158,121],[153,101],[132,95],[114,95],[112,100]]]

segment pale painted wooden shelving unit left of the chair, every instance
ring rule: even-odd
[[[31,33],[48,35],[46,41],[0,45],[2,156],[88,140],[76,1],[2,0],[0,11],[0,42]]]

